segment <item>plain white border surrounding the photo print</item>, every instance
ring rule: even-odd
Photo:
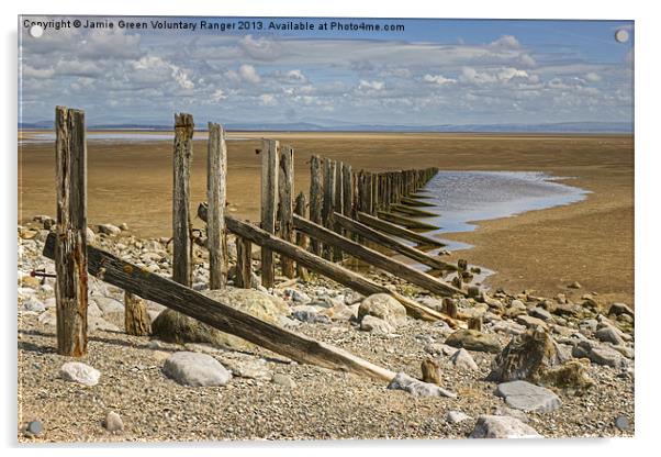
[[[2,210],[7,220],[1,225],[3,261],[0,278],[3,282],[3,363],[2,377],[2,437],[8,447],[15,446],[15,232],[16,212],[16,15],[18,14],[114,14],[114,15],[276,15],[276,16],[390,16],[390,18],[484,18],[484,19],[612,19],[636,21],[636,303],[638,328],[636,356],[636,438],[553,442],[507,442],[475,443],[468,441],[447,442],[335,442],[335,443],[281,443],[277,446],[239,443],[204,447],[202,454],[231,453],[232,455],[315,455],[330,456],[337,453],[366,455],[378,452],[381,455],[401,455],[407,450],[416,454],[461,453],[461,455],[508,455],[535,453],[535,455],[559,455],[583,452],[598,455],[634,456],[645,455],[648,448],[659,447],[654,443],[659,426],[659,344],[654,341],[660,324],[656,319],[661,306],[659,294],[654,293],[652,272],[659,258],[657,232],[659,225],[659,202],[661,196],[657,176],[659,171],[659,53],[661,44],[661,23],[651,1],[578,1],[553,0],[545,3],[533,1],[418,1],[404,2],[333,0],[324,2],[289,0],[161,0],[158,2],[138,2],[135,0],[113,0],[110,2],[72,0],[31,0],[30,2],[3,2],[2,54],[5,109],[2,110]],[[614,239],[614,243],[617,241]],[[8,254],[9,253],[9,254]],[[13,253],[13,254],[12,254]],[[222,419],[220,419],[222,420]],[[658,434],[658,432],[657,432]],[[143,447],[143,446],[141,446]],[[158,446],[161,455],[178,455],[189,445]],[[198,446],[195,446],[198,447]],[[124,446],[125,448],[125,446]],[[143,447],[145,448],[145,447]],[[313,449],[314,448],[314,449]],[[146,449],[146,448],[145,448]],[[10,449],[11,452],[16,449]],[[122,448],[102,448],[94,446],[86,449],[23,448],[27,454],[72,455],[93,453],[97,455],[116,455]],[[156,449],[155,449],[156,450]],[[658,450],[657,450],[658,452]]]

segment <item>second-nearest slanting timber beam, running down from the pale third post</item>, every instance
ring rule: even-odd
[[[414,317],[426,321],[441,320],[447,322],[452,328],[460,326],[458,322],[449,319],[447,315],[438,311],[427,308],[396,292],[392,292],[384,286],[370,281],[369,279],[363,278],[362,276],[329,260],[317,257],[307,250],[301,249],[299,246],[277,238],[261,228],[242,222],[229,215],[225,216],[225,222],[227,223],[227,230],[236,234],[238,237],[247,238],[259,246],[268,246],[270,249],[280,253],[281,255],[293,258],[296,263],[301,264],[307,269],[317,271],[333,279],[334,281],[339,282],[340,285],[362,293],[363,296],[371,296],[373,293],[388,293],[402,303],[404,308],[406,308],[407,313]]]

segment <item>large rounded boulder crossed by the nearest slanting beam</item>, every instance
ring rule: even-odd
[[[282,299],[251,289],[206,290],[203,294],[243,311],[265,322],[279,325],[280,319],[289,314]],[[165,310],[152,323],[152,334],[168,343],[205,343],[215,347],[250,350],[255,345],[238,336],[221,332],[197,319],[177,311]]]

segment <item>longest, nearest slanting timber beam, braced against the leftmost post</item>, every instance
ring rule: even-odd
[[[271,236],[264,231],[260,232]],[[51,234],[46,239],[44,256],[54,258],[54,249],[55,234]],[[298,363],[349,371],[386,381],[395,376],[394,372],[356,357],[344,349],[264,322],[104,250],[88,246],[88,254],[90,275]]]

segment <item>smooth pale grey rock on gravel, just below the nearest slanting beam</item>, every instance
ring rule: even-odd
[[[183,386],[225,386],[232,374],[208,354],[180,352],[168,357],[163,372]]]

